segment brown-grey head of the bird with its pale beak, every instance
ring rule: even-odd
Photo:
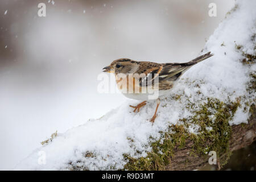
[[[114,60],[108,67],[104,67],[103,72],[108,73],[123,73],[128,75],[129,73],[135,73],[139,68],[139,62],[130,59],[118,59]]]

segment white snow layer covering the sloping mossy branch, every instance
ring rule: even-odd
[[[146,156],[146,152],[151,150],[148,146],[150,136],[158,139],[159,131],[166,131],[171,123],[175,124],[180,118],[192,115],[184,107],[187,99],[198,106],[204,103],[207,97],[229,102],[245,96],[230,125],[247,122],[249,113],[243,111],[246,106],[244,103],[251,104],[255,101],[255,93],[249,96],[246,85],[250,81],[249,73],[255,73],[256,66],[243,65],[241,60],[244,58],[242,51],[250,55],[256,53],[255,38],[251,39],[256,32],[256,1],[236,3],[236,9],[220,23],[201,53],[211,51],[214,56],[189,69],[170,96],[162,97],[154,125],[148,121],[155,110],[154,101],[148,102],[139,113],[133,113],[129,107],[138,104],[138,101],[127,101],[100,119],[90,120],[85,125],[58,134],[52,142],[32,152],[14,169],[68,169],[69,162],[90,170],[112,169],[112,166],[122,169],[125,165],[122,154],[134,156],[135,151],[141,151],[141,156]],[[242,48],[238,50],[236,45],[241,45]],[[200,88],[195,86],[197,84]],[[181,95],[180,100],[174,100],[172,96],[175,94]],[[196,126],[189,129],[193,133],[196,133],[196,130]],[[127,138],[134,140],[133,145]],[[41,159],[39,155],[42,155],[40,151],[46,154],[46,164],[38,163]],[[85,159],[83,156],[86,152],[92,152],[94,158]]]

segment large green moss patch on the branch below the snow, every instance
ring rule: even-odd
[[[214,98],[208,98],[207,102],[195,110],[192,117],[180,119],[179,125],[171,125],[166,133],[160,133],[160,140],[151,142],[152,150],[146,157],[133,158],[124,154],[128,170],[164,170],[173,159],[174,151],[185,147],[187,140],[192,140],[192,151],[189,155],[196,158],[205,156],[209,158],[209,151],[216,151],[220,166],[223,166],[231,152],[229,151],[229,139],[232,129],[229,126],[230,119],[240,106],[240,100],[225,104]],[[200,126],[198,134],[188,132],[191,125]],[[209,130],[212,129],[212,130]],[[225,156],[225,157],[222,157]],[[189,160],[184,160],[189,163]]]

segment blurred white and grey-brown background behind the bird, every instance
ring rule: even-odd
[[[46,3],[46,17],[38,3]],[[209,3],[217,17],[209,17]],[[42,140],[127,98],[97,92],[115,59],[188,61],[234,5],[226,1],[0,1],[0,169]],[[6,12],[7,10],[7,12]],[[86,132],[86,131],[85,131]]]

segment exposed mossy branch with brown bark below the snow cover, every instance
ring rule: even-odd
[[[224,104],[218,100],[208,99],[199,111],[189,119],[193,124],[199,123],[199,134],[191,134],[187,119],[181,119],[183,124],[170,126],[170,131],[162,133],[163,140],[152,142],[152,151],[145,158],[127,160],[128,170],[194,170],[208,163],[208,151],[216,151],[217,166],[220,169],[228,162],[232,151],[248,146],[256,139],[256,109],[251,105],[251,117],[247,124],[229,125],[240,101]],[[214,122],[209,118],[214,112]],[[209,126],[211,129],[209,129]]]

